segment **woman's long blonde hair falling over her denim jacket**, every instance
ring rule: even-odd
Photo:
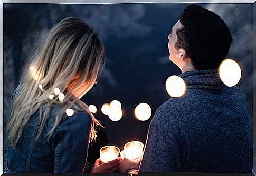
[[[10,146],[16,147],[26,123],[37,110],[40,112],[38,139],[51,106],[60,105],[63,108],[56,115],[48,139],[62,120],[65,110],[72,107],[83,109],[90,115],[90,137],[93,139],[96,136],[94,126],[100,125],[100,122],[88,110],[86,103],[77,98],[80,95],[75,97],[73,93],[83,88],[82,95],[92,87],[104,59],[105,51],[98,34],[82,19],[67,17],[53,26],[20,79],[7,124]],[[60,101],[58,95],[54,96],[55,88],[63,92],[63,100]]]

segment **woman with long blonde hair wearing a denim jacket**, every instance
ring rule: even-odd
[[[10,172],[81,173],[100,122],[80,98],[96,83],[105,51],[80,18],[56,24],[27,65],[7,123]],[[119,158],[92,173],[115,172]]]

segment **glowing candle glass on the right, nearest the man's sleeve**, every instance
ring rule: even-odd
[[[139,141],[131,141],[125,144],[125,157],[131,160],[138,159],[143,153],[144,144]]]

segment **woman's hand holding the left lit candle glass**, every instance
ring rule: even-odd
[[[117,171],[120,158],[101,163],[100,158],[95,161],[91,173],[113,173]]]

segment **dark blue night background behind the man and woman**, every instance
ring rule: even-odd
[[[105,68],[98,84],[82,100],[97,106],[96,117],[106,127],[103,130],[109,143],[120,149],[131,140],[145,144],[154,112],[169,99],[166,79],[181,73],[169,60],[167,36],[187,5],[4,4],[5,111],[17,78],[40,37],[61,19],[78,16],[100,34],[106,49]],[[229,56],[242,67],[239,86],[252,115],[252,4],[201,6],[219,14],[231,29],[234,41]],[[100,111],[103,103],[111,100],[122,103],[124,116],[118,122]],[[153,110],[151,118],[144,122],[134,116],[134,109],[141,102],[148,103]]]

